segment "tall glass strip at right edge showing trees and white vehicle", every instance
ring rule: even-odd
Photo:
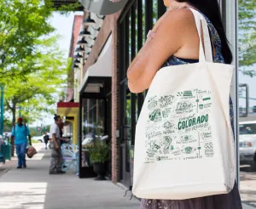
[[[249,89],[248,94],[239,89],[240,192],[241,201],[256,208],[256,5],[255,0],[238,3],[238,80]]]

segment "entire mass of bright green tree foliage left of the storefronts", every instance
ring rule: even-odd
[[[57,10],[69,14],[79,5]],[[29,122],[42,111],[52,112],[58,93],[67,86],[71,60],[63,60],[56,46],[59,37],[49,22],[56,10],[52,6],[50,0],[0,1],[0,80],[13,122],[18,106]]]

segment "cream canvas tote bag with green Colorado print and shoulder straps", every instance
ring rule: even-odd
[[[200,37],[199,63],[160,69],[137,121],[132,189],[140,198],[227,194],[235,184],[229,105],[234,66],[212,63],[207,21],[191,11]]]

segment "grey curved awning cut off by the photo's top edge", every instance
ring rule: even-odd
[[[114,14],[125,7],[128,0],[112,2],[111,0],[79,0],[84,8],[92,13],[108,15]]]

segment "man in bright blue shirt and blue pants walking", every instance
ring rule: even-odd
[[[29,129],[22,123],[22,118],[19,117],[17,124],[12,130],[12,140],[15,138],[15,149],[18,156],[18,169],[22,167],[26,168],[27,137],[29,138],[29,144],[32,145]]]

